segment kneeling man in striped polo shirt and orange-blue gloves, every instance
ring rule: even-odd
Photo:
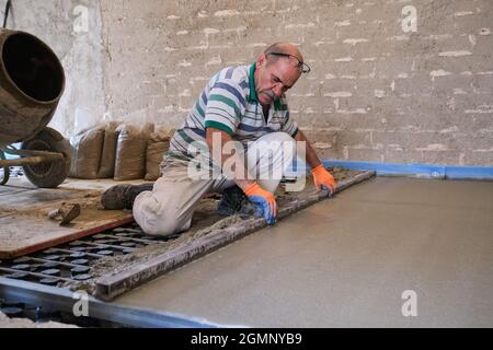
[[[334,192],[333,176],[290,118],[285,101],[285,93],[309,71],[298,48],[288,43],[272,45],[251,66],[219,71],[173,136],[161,164],[162,177],[153,185],[114,186],[103,194],[103,206],[133,208],[146,233],[168,235],[190,228],[193,212],[207,192],[222,191],[221,212],[253,209],[274,224],[274,192],[282,176],[272,176],[271,171],[280,175],[287,171],[296,158],[297,142],[306,142],[306,162],[317,188]],[[227,152],[230,144],[233,147]],[[216,176],[194,173],[197,165],[213,163],[214,170],[220,168]]]

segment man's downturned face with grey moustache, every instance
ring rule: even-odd
[[[256,65],[259,73],[255,74],[255,89],[259,102],[263,106],[270,106],[280,98],[301,75],[299,68],[289,63],[284,57],[268,62],[265,55],[262,55]]]

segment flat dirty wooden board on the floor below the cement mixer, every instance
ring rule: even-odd
[[[14,183],[15,184],[15,183]],[[129,211],[102,210],[102,190],[41,189],[15,184],[0,187],[0,259],[78,240],[134,220]],[[81,214],[67,226],[48,219],[61,203],[79,203]]]

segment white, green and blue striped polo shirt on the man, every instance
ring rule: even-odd
[[[298,127],[289,116],[285,96],[271,105],[265,120],[255,91],[254,72],[255,63],[225,68],[216,73],[171,139],[168,156],[190,160],[191,149],[207,151],[206,128],[226,131],[245,148],[268,132],[284,131],[295,137]]]

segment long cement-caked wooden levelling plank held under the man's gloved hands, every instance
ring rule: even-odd
[[[341,180],[337,191],[342,191],[372,176],[375,176],[375,172],[365,172],[352,178]],[[301,199],[294,200],[279,209],[278,219],[288,217],[325,198],[326,195],[324,194],[312,192]],[[216,233],[202,236],[188,245],[179,246],[154,258],[146,261],[136,261],[135,265],[124,271],[107,273],[99,278],[96,280],[96,296],[111,301],[147,281],[240,240],[264,226],[266,226],[266,223],[263,219],[248,219]]]

